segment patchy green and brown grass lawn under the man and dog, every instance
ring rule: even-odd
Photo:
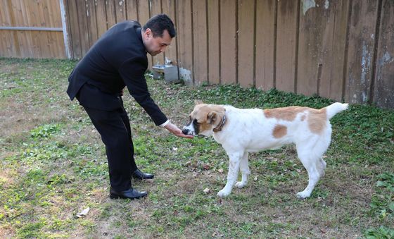
[[[224,149],[212,137],[155,127],[127,93],[136,162],[155,178],[132,182],[148,190],[144,200],[110,200],[100,135],[65,94],[75,63],[0,59],[0,238],[394,238],[393,110],[352,105],[331,119],[326,175],[307,200],[295,197],[307,173],[293,145],[250,154],[248,185],[220,200]],[[332,103],[234,85],[148,85],[179,126],[195,99],[239,108]]]

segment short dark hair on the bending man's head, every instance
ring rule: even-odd
[[[158,14],[151,17],[142,29],[145,31],[148,28],[152,30],[153,37],[163,37],[164,30],[167,30],[171,38],[177,35],[174,23],[172,23],[172,20],[165,14]]]

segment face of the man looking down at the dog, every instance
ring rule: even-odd
[[[153,32],[147,28],[142,32],[142,40],[144,42],[146,51],[152,56],[165,51],[165,48],[171,44],[172,38],[167,30],[164,30],[163,37],[153,37]]]

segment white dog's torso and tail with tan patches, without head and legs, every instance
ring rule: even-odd
[[[236,145],[247,152],[258,152],[305,141],[321,142],[322,148],[328,147],[331,141],[329,119],[347,109],[348,104],[334,103],[322,109],[300,106],[265,110],[224,108],[228,118],[225,128],[229,130],[215,134],[215,140],[224,147]],[[325,152],[325,149],[319,151]]]

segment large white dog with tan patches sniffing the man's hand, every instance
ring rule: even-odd
[[[236,187],[243,188],[250,174],[248,153],[277,149],[295,143],[298,157],[308,173],[308,185],[297,197],[310,197],[319,178],[324,176],[326,162],[322,155],[331,142],[329,119],[348,109],[348,104],[334,103],[323,109],[291,106],[278,109],[237,109],[228,105],[196,102],[185,135],[213,135],[230,159],[226,186],[217,193],[226,197],[238,177]]]

